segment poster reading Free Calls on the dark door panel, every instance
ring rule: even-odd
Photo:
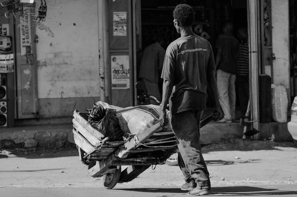
[[[111,56],[111,88],[130,88],[129,55]]]

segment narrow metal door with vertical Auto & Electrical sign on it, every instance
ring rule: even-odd
[[[18,19],[15,19],[17,119],[38,118],[38,36],[35,31],[35,17],[24,13]]]

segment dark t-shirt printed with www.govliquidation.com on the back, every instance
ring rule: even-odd
[[[176,39],[167,47],[161,78],[175,85],[171,114],[206,109],[206,73],[215,70],[210,43],[198,35]]]

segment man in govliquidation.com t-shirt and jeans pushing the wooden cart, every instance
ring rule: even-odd
[[[207,195],[211,193],[211,184],[201,153],[199,127],[206,109],[207,87],[214,99],[214,120],[222,116],[214,55],[210,43],[192,31],[194,12],[189,5],[176,6],[173,17],[181,37],[170,43],[166,50],[161,74],[164,81],[159,122],[162,126],[167,125],[166,105],[169,102],[170,124],[178,141],[178,164],[185,179],[181,190],[190,190],[191,195]],[[175,91],[171,95],[173,86]]]

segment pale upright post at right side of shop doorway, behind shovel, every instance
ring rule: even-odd
[[[259,91],[258,91],[258,4],[257,0],[248,0],[248,31],[249,31],[249,100],[251,120],[259,120]],[[259,130],[259,121],[253,122],[252,127]],[[259,139],[256,134],[254,139]]]

